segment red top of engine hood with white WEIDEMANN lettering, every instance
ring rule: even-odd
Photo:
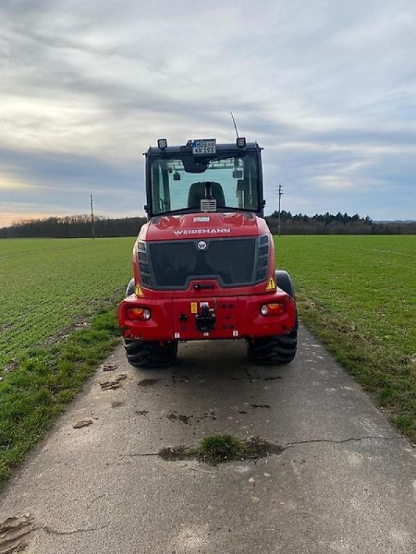
[[[141,228],[146,241],[190,238],[250,237],[268,233],[266,222],[253,213],[186,213],[153,217]]]

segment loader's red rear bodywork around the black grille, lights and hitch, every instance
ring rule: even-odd
[[[135,283],[140,284],[142,297],[128,296],[119,305],[119,326],[124,337],[152,341],[237,339],[288,334],[297,325],[295,301],[277,288],[267,290],[270,277],[275,275],[275,249],[270,235],[269,263],[266,281],[257,285],[222,288],[216,279],[192,280],[184,290],[157,290],[141,284],[137,262],[139,241],[180,241],[193,238],[239,238],[270,235],[266,222],[247,213],[190,213],[153,217],[142,226],[133,252]],[[194,286],[209,286],[195,289]],[[261,315],[261,306],[284,303],[286,311],[279,316]],[[195,304],[193,304],[195,303]],[[198,330],[201,303],[207,303],[215,314],[215,327],[209,332]],[[148,321],[130,321],[130,307],[150,310]]]

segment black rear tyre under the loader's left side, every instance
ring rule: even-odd
[[[163,368],[175,364],[177,341],[141,341],[124,339],[125,355],[135,368]]]

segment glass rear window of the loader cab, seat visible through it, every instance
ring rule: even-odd
[[[259,210],[259,166],[256,154],[223,157],[176,154],[150,161],[153,214],[200,211],[202,199],[215,199],[220,211]]]

